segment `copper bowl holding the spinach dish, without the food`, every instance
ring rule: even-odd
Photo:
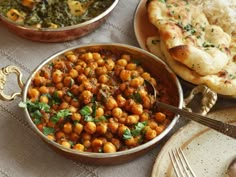
[[[1,0],[0,0],[1,1]],[[61,27],[56,29],[49,28],[33,28],[19,25],[5,16],[0,14],[0,21],[13,33],[32,40],[39,42],[63,42],[69,41],[76,38],[80,38],[88,33],[91,33],[97,29],[102,23],[105,22],[111,11],[116,7],[119,0],[114,0],[113,4],[106,9],[100,15],[92,18],[91,20],[79,23],[77,25]]]

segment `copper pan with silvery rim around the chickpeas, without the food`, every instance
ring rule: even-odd
[[[61,52],[58,52],[46,60],[44,60],[30,75],[28,80],[25,84],[22,82],[22,74],[15,66],[8,66],[0,70],[0,80],[2,81],[0,84],[0,98],[4,100],[12,100],[16,96],[22,96],[22,101],[27,101],[27,93],[29,90],[29,87],[32,82],[32,78],[35,76],[35,74],[46,64],[50,63],[53,59],[55,59],[57,56],[62,55],[65,52],[76,50],[76,51],[90,51],[90,52],[98,52],[98,51],[111,51],[113,53],[125,53],[132,56],[132,58],[135,58],[139,61],[140,65],[144,68],[145,71],[151,73],[151,75],[158,80],[164,87],[167,88],[168,97],[171,98],[171,104],[174,106],[177,106],[179,108],[183,107],[184,101],[183,101],[183,93],[182,88],[179,83],[178,78],[176,75],[168,68],[168,66],[163,63],[160,59],[155,57],[154,55],[133,47],[129,45],[124,44],[91,44],[91,45],[80,45],[73,48],[69,48],[66,50],[63,50]],[[14,93],[11,96],[8,96],[3,93],[3,86],[6,83],[6,75],[9,73],[15,73],[18,75],[18,83],[20,88],[22,88],[22,91],[19,93]],[[135,157],[141,156],[142,154],[145,154],[148,150],[158,145],[159,141],[162,140],[174,127],[178,120],[178,116],[173,116],[172,121],[170,124],[165,128],[165,130],[160,133],[158,136],[156,136],[154,139],[141,144],[137,147],[124,150],[124,151],[118,151],[114,153],[95,153],[95,152],[80,152],[77,150],[69,149],[66,147],[63,147],[62,145],[49,140],[34,124],[32,121],[30,114],[27,110],[27,108],[24,109],[25,117],[30,124],[30,126],[33,128],[33,130],[37,133],[37,135],[46,142],[47,145],[49,145],[51,148],[53,148],[56,152],[64,155],[67,158],[80,161],[83,163],[90,163],[90,164],[99,164],[99,165],[113,165],[113,164],[120,164],[123,162],[130,161],[134,159]]]

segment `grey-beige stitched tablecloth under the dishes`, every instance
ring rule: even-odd
[[[79,44],[118,42],[138,47],[133,17],[139,0],[120,0],[107,21],[93,33],[64,43],[39,43],[22,39],[0,24],[0,67],[16,65],[28,78],[48,56]],[[6,92],[19,90],[10,76]],[[18,103],[0,101],[1,177],[145,177],[150,176],[155,158],[169,138],[131,162],[115,166],[90,166],[68,160],[51,150],[29,127]],[[177,127],[180,125],[177,125]],[[173,132],[172,132],[173,133]],[[168,157],[167,157],[168,158]]]

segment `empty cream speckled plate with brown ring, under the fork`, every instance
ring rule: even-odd
[[[227,108],[208,115],[236,125],[236,108]],[[236,156],[236,140],[195,122],[175,133],[158,154],[152,177],[175,176],[168,152],[181,147],[199,177],[224,177],[228,164]]]

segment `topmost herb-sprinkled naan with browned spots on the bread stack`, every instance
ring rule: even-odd
[[[147,10],[174,60],[200,75],[216,74],[230,62],[231,37],[210,25],[196,6],[182,0],[152,0]]]

